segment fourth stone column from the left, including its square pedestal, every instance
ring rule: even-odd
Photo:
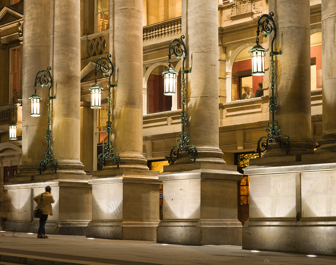
[[[202,10],[197,12],[196,10]],[[240,245],[237,166],[225,165],[219,149],[218,2],[182,0],[187,48],[187,126],[193,161],[180,157],[164,166],[163,219],[157,242],[183,245]],[[212,209],[212,210],[210,210]]]

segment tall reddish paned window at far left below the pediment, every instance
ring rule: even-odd
[[[20,92],[20,65],[21,65],[21,48],[10,49],[10,97],[14,94],[13,89]]]

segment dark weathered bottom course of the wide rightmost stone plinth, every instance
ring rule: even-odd
[[[333,220],[246,221],[243,249],[336,256]]]

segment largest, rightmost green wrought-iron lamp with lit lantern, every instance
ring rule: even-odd
[[[272,120],[268,122],[268,127],[266,128],[266,132],[268,133],[267,136],[263,136],[258,139],[257,150],[256,152],[261,157],[261,152],[264,152],[268,148],[268,143],[276,142],[279,143],[280,148],[286,149],[286,154],[288,154],[290,141],[289,136],[282,134],[280,135],[280,125],[278,125],[278,121],[274,119],[274,113],[277,111],[277,98],[274,95],[275,90],[275,67],[274,67],[274,55],[280,55],[280,51],[274,51],[273,45],[274,40],[277,35],[277,28],[275,26],[275,22],[273,19],[274,13],[270,12],[269,14],[262,14],[258,19],[257,24],[257,40],[256,45],[249,50],[249,53],[252,57],[252,75],[253,76],[262,76],[265,74],[265,67],[264,67],[264,56],[266,50],[259,45],[259,32],[260,27],[262,32],[267,35],[270,35],[274,32],[274,36],[271,42],[271,52],[269,56],[271,57],[270,60],[270,67],[269,67],[269,80],[271,84],[271,91],[272,95],[269,97],[269,111],[272,113]]]

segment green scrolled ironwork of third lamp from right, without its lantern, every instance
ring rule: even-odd
[[[106,164],[106,159],[111,159],[113,164],[117,164],[117,168],[120,166],[120,156],[118,153],[113,152],[114,146],[110,140],[110,134],[112,133],[112,122],[111,122],[111,111],[112,111],[112,96],[111,87],[116,87],[117,85],[111,85],[111,77],[113,74],[113,64],[111,61],[112,55],[108,54],[107,57],[99,57],[96,60],[94,79],[97,83],[97,73],[100,72],[104,77],[109,77],[109,91],[107,97],[107,108],[108,108],[108,121],[106,122],[106,133],[108,135],[107,141],[104,143],[103,152],[97,156],[97,164],[104,166]]]

